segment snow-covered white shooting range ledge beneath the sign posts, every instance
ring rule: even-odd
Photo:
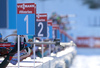
[[[51,53],[50,57],[47,56],[43,58],[37,58],[35,60],[35,67],[33,66],[34,59],[28,57],[20,62],[20,68],[69,68],[75,55],[75,46],[70,45],[63,51],[58,52],[57,54]],[[18,68],[18,64],[9,64],[7,68]]]

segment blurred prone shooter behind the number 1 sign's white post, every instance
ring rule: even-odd
[[[14,31],[14,33],[16,34],[17,31]],[[33,54],[33,51],[30,47],[25,48],[25,42],[27,42],[26,35],[20,35],[20,61],[26,59],[27,57],[30,57]],[[18,46],[18,36],[16,36],[15,38],[15,52],[17,51],[17,46]],[[11,63],[14,65],[18,61],[17,56],[18,53],[16,52],[11,60]]]

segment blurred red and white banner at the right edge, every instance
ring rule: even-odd
[[[77,37],[78,47],[100,47],[100,37]]]

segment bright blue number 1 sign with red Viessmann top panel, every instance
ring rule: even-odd
[[[35,35],[35,3],[17,4],[17,34]]]

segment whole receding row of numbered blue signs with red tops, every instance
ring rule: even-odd
[[[47,14],[36,14],[35,3],[17,4],[17,34],[18,35],[34,35],[35,37],[53,38],[52,28],[54,29],[55,38],[60,38],[59,25],[53,24],[52,20],[47,20]],[[62,41],[65,36],[62,34]]]

